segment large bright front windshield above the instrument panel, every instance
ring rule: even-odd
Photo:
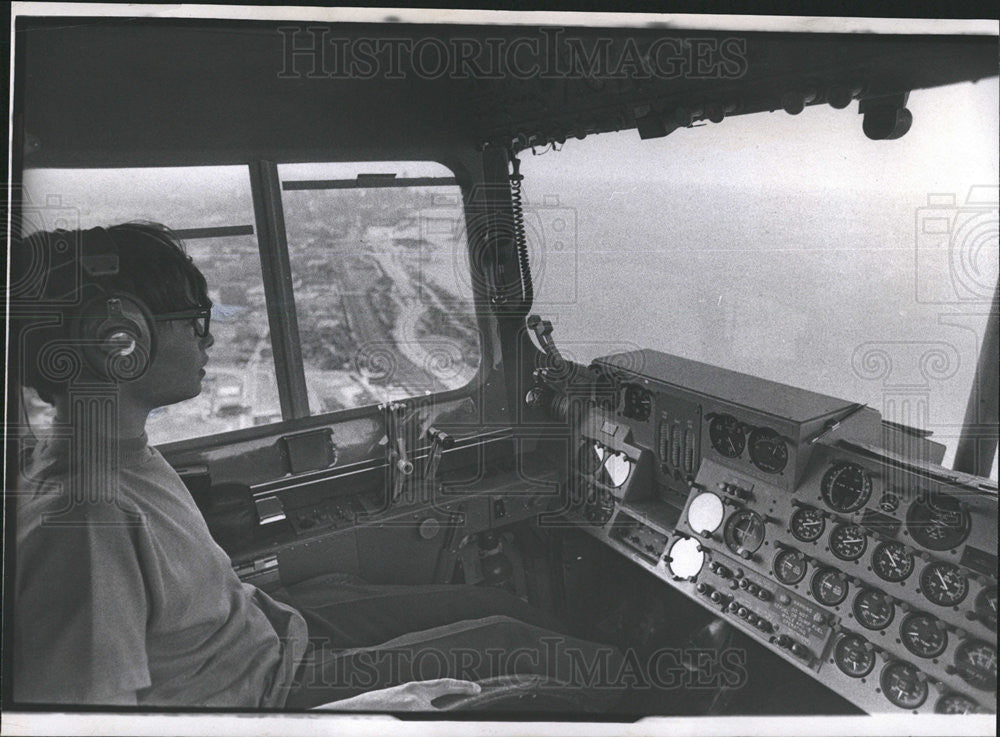
[[[997,98],[914,91],[895,141],[817,106],[525,151],[526,212],[574,223],[528,231],[534,311],[574,360],[651,347],[864,402],[949,465],[997,288]]]

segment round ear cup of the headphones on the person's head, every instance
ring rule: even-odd
[[[102,379],[135,381],[149,370],[156,354],[156,323],[138,298],[103,295],[89,302],[75,323],[80,352]]]

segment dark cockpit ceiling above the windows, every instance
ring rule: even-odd
[[[446,158],[997,74],[984,36],[95,18],[17,30],[27,166]]]

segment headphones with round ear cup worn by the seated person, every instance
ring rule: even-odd
[[[83,271],[91,279],[118,273],[118,244],[104,228],[83,234]],[[84,248],[81,248],[84,250]],[[87,366],[104,380],[135,381],[149,370],[156,356],[156,321],[134,294],[109,291],[91,282],[100,294],[80,307],[71,320],[71,335]]]

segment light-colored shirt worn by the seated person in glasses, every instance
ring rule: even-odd
[[[65,442],[43,441],[24,475],[15,699],[280,707],[306,647],[301,614],[239,580],[145,437],[120,445],[106,499],[73,501]]]

